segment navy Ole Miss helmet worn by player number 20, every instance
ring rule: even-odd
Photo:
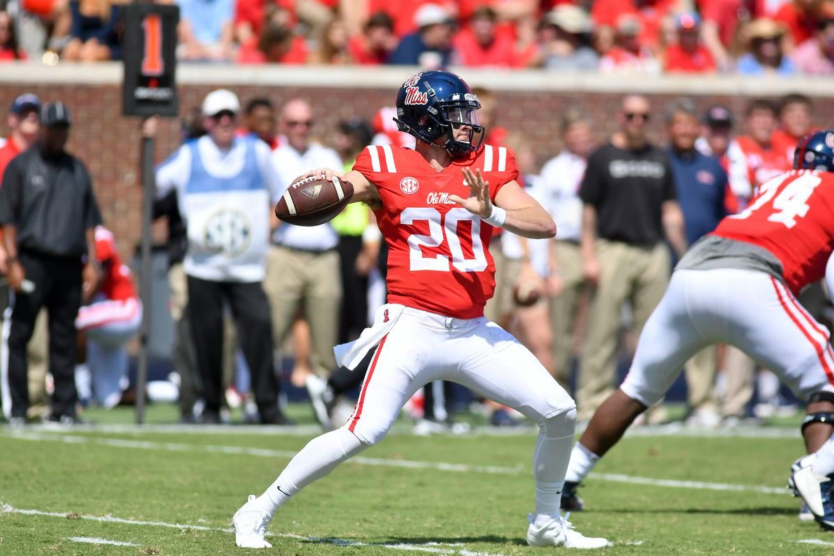
[[[399,131],[420,141],[435,143],[462,158],[480,148],[484,127],[478,125],[478,98],[466,82],[450,72],[420,72],[409,78],[397,93]],[[470,128],[469,141],[455,139],[454,130]]]

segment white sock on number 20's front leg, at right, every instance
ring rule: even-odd
[[[575,426],[575,409],[545,419],[539,425],[539,438],[536,438],[533,453],[537,521],[559,516]]]

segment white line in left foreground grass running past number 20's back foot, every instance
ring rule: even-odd
[[[70,512],[43,512],[39,509],[22,509],[22,508],[15,508],[14,506],[8,503],[0,502],[0,513],[19,513],[22,515],[38,515],[50,518],[68,518],[69,515],[72,513]],[[112,515],[88,515],[88,514],[81,514],[77,516],[73,516],[76,519],[84,519],[87,521],[96,521],[99,523],[123,523],[126,525],[139,525],[139,526],[146,526],[146,527],[165,527],[165,528],[172,528],[172,529],[194,529],[197,531],[216,531],[219,533],[232,533],[234,529],[229,527],[206,527],[204,525],[192,525],[188,523],[166,523],[164,521],[140,521],[138,519],[125,519],[125,518],[116,518]],[[357,541],[349,541],[344,540],[342,538],[319,538],[319,537],[304,537],[303,535],[297,535],[293,533],[266,533],[267,537],[280,537],[280,538],[294,538],[297,540],[303,540],[313,543],[329,543],[334,544],[335,546],[378,546],[382,548],[394,548],[398,550],[410,550],[414,552],[430,552],[430,553],[439,553],[439,554],[448,554],[449,556],[504,556],[501,553],[489,553],[489,552],[472,552],[471,550],[467,550],[465,548],[430,548],[429,545],[435,546],[456,546],[453,545],[445,545],[442,543],[425,543],[425,544],[409,544],[409,543],[384,543],[384,544],[377,544],[377,543],[361,543]],[[77,540],[77,539],[88,539],[88,540]],[[85,542],[85,543],[99,543],[99,544],[116,544],[118,541],[108,541],[103,538],[93,538],[93,537],[73,537],[70,540],[77,540],[77,542]],[[131,543],[118,543],[119,546],[139,546],[137,544]]]

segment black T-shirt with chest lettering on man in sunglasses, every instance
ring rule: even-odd
[[[654,145],[627,151],[605,144],[588,158],[580,198],[596,209],[600,238],[652,247],[664,238],[663,203],[677,198],[671,162]]]

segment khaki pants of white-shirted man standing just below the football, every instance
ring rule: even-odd
[[[342,303],[339,253],[306,253],[274,245],[267,256],[264,290],[272,311],[275,347],[284,345],[301,308],[313,340],[313,372],[329,377],[336,368],[333,347]]]

